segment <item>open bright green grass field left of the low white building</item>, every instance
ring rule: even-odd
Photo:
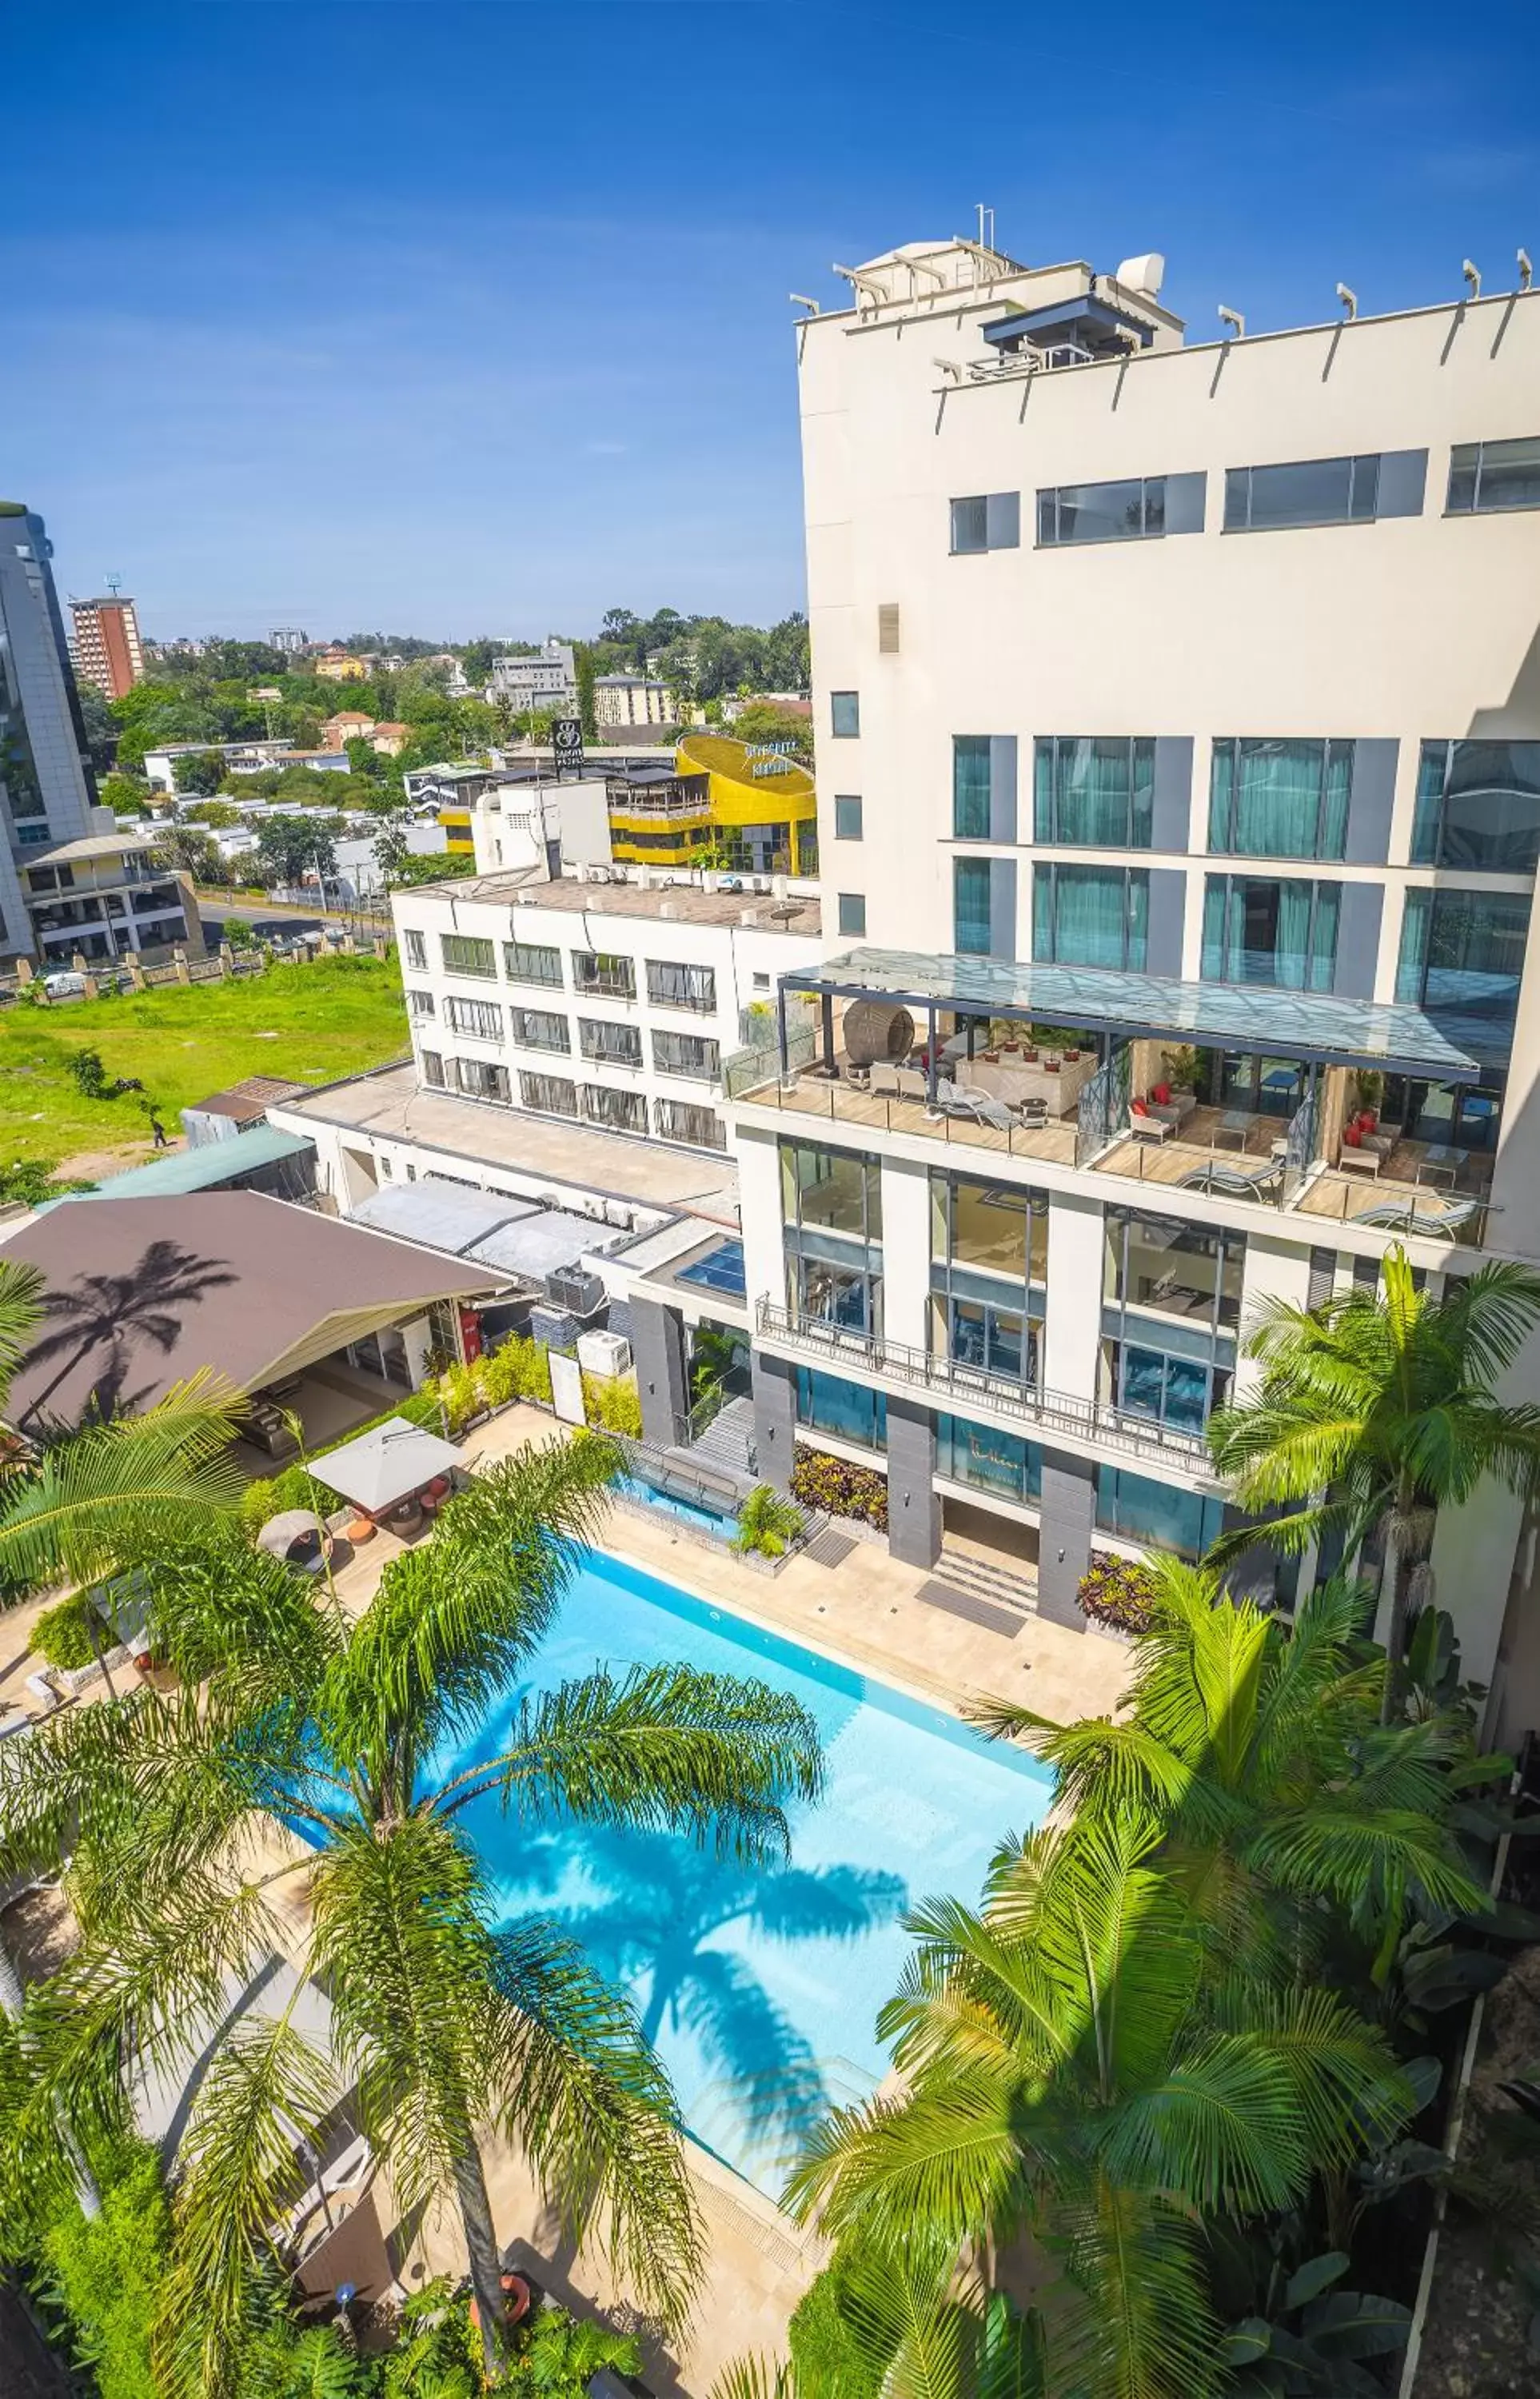
[[[94,1048],[108,1080],[144,1084],[173,1142],[178,1111],[247,1075],[333,1082],[410,1048],[396,957],[317,957],[230,984],[0,1015],[0,1166],[43,1161],[86,1178],[151,1154],[139,1092],[86,1099],[70,1060]]]

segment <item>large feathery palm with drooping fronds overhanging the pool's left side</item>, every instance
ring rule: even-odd
[[[293,2130],[314,2135],[338,2080],[403,2214],[458,2207],[489,2370],[492,2130],[645,2305],[674,2320],[688,2296],[698,2224],[667,2080],[559,1929],[497,1922],[463,1828],[497,1794],[528,1833],[631,1823],[768,1859],[787,1852],[784,1802],[820,1787],[796,1701],[691,1667],[595,1667],[523,1698],[492,1754],[475,1746],[552,1627],[614,1471],[600,1439],[489,1468],[353,1624],[235,1535],[168,1555],[146,1583],[182,1691],[53,1718],[0,1751],[0,1876],[74,1842],[82,1946],[31,2037],[36,2090],[86,2128],[110,2121],[137,2058],[185,2068],[187,2025],[223,2025],[228,1977],[249,1984],[283,1948],[273,1888],[307,1886],[295,1970],[326,1991],[331,2058],[288,2015],[218,2039],[180,2152],[170,2315],[194,2337],[170,2346],[175,2389],[221,2389],[293,2190]],[[273,1852],[278,1826],[300,1840]],[[38,2145],[36,2106],[7,2138]]]

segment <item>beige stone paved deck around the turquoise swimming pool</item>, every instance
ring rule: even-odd
[[[561,1427],[545,1411],[511,1408],[470,1432],[465,1451],[480,1463],[509,1456],[525,1442],[559,1437]],[[386,1562],[401,1547],[401,1540],[379,1533],[338,1569],[338,1598],[348,1612],[367,1607]],[[772,1576],[703,1547],[662,1516],[652,1523],[616,1509],[604,1528],[604,1550],[940,1708],[957,1708],[988,1691],[1019,1698],[1060,1722],[1101,1715],[1118,1706],[1130,1665],[1130,1651],[1099,1631],[1075,1634],[1029,1617],[1007,1639],[928,1607],[919,1600],[928,1576],[890,1557],[876,1540],[856,1540],[837,1567],[794,1557]],[[26,1636],[41,1605],[0,1615],[0,1708],[26,1703]],[[297,1955],[305,1938],[302,1881],[285,1886],[285,1910],[293,1910]],[[645,2339],[645,2380],[660,2394],[705,2399],[732,2358],[746,2351],[784,2353],[787,2322],[823,2262],[823,2245],[705,2152],[691,2150],[688,2157],[705,2219],[708,2269],[688,2332],[676,2344]],[[525,2262],[552,2296],[631,2322],[624,2293],[609,2281],[602,2260],[573,2255],[523,2157],[489,2140],[485,2159],[506,2255]],[[381,2195],[381,2221],[393,2214]],[[453,2214],[422,2224],[401,2257],[408,2289],[444,2269],[463,2269]]]

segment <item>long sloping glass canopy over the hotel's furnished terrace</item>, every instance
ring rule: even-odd
[[[1094,1034],[1171,1039],[1202,1048],[1264,1051],[1322,1065],[1391,1068],[1444,1082],[1480,1082],[1506,1065],[1511,1024],[1478,1012],[1348,1000],[1336,993],[1180,984],[1111,967],[1048,967],[916,950],[847,950],[782,976],[782,998],[890,998],[919,1010],[1019,1015]]]

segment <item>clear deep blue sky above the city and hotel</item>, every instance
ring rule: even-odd
[[[1526,22],[1530,31],[1526,31]],[[7,12],[0,494],[149,633],[804,597],[787,305],[969,230],[1199,338],[1540,257],[1518,7]]]

